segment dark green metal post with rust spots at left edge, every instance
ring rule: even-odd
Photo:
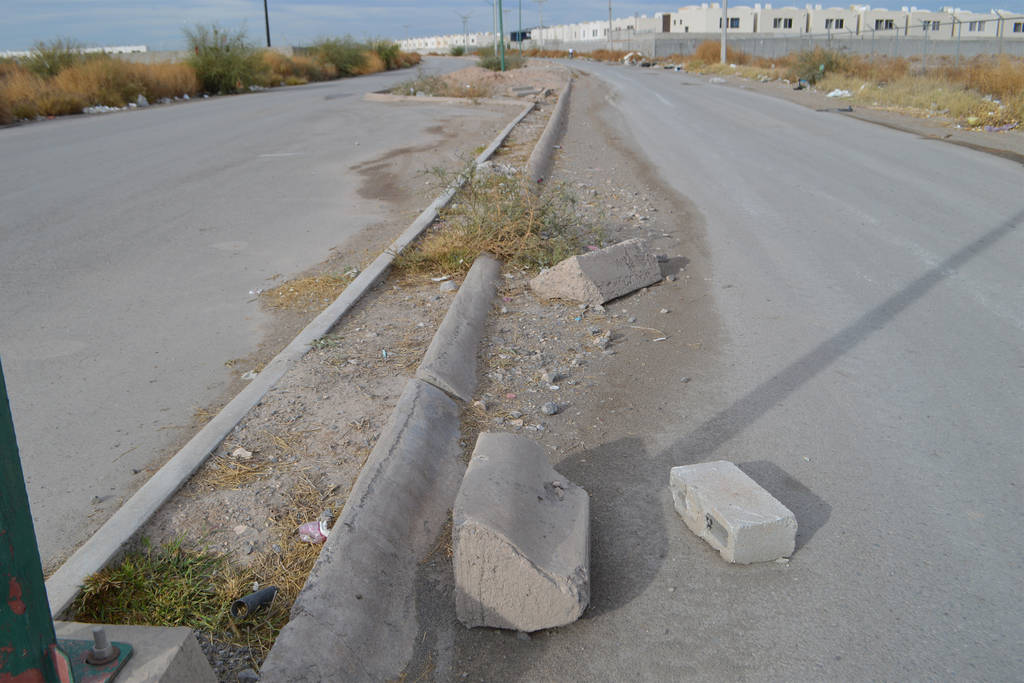
[[[0,680],[59,680],[56,640],[0,366]]]

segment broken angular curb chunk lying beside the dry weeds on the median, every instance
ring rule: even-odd
[[[573,299],[602,304],[662,280],[657,258],[644,240],[627,240],[598,251],[571,256],[529,281],[545,299]]]

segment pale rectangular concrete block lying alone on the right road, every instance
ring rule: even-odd
[[[770,562],[793,554],[797,518],[732,463],[673,467],[669,486],[676,512],[726,561]]]

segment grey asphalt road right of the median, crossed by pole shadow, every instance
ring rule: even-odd
[[[573,66],[695,207],[721,330],[601,415],[639,436],[558,465],[591,487],[591,609],[529,642],[457,629],[454,677],[1019,680],[1024,169],[707,78]],[[670,467],[720,459],[796,512],[787,565],[729,565],[676,516]]]

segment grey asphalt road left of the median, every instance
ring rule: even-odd
[[[414,76],[0,129],[0,358],[45,565],[222,396],[268,329],[250,291],[386,217],[352,166],[512,116],[361,99]]]

